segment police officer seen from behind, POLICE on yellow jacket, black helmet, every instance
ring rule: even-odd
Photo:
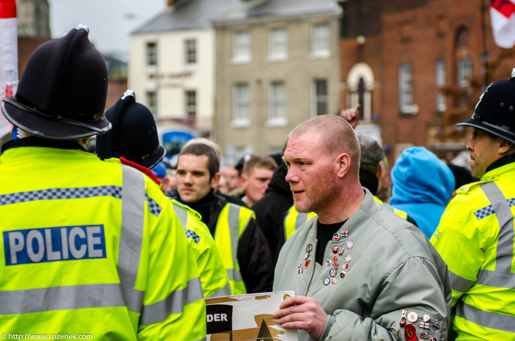
[[[106,132],[107,67],[77,26],[30,57],[2,102],[0,331],[205,338],[199,273],[159,187],[83,148]]]

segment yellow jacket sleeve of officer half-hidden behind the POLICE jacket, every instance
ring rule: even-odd
[[[220,252],[208,227],[200,220],[200,214],[175,199],[169,199],[195,253],[204,297],[232,295]]]

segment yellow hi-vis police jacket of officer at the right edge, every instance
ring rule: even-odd
[[[515,162],[460,187],[431,243],[447,263],[457,340],[515,339]]]

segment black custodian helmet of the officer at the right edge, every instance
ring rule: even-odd
[[[486,130],[515,144],[515,69],[510,79],[491,83],[479,97],[472,118],[457,125]]]

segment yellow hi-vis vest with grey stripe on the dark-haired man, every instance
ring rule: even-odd
[[[215,244],[218,246],[222,262],[229,277],[233,295],[247,294],[242,273],[238,264],[238,240],[249,224],[255,219],[252,210],[233,203],[227,203],[220,211],[216,223]]]

